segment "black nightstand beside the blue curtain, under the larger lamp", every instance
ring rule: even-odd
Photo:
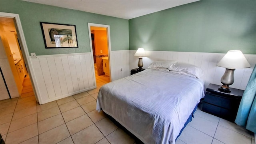
[[[230,88],[231,92],[225,93],[218,88],[220,86],[216,84],[208,85],[202,111],[234,122],[244,90]]]

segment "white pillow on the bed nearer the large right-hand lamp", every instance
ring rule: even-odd
[[[181,62],[177,62],[176,64],[173,64],[168,69],[172,71],[177,71],[177,72],[187,72],[188,74],[192,74],[196,76],[196,78],[198,79],[200,79],[204,75],[204,72],[201,68],[192,64],[186,64]]]

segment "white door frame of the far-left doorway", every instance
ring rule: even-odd
[[[34,70],[33,70],[33,66],[32,66],[32,62],[30,60],[30,56],[29,56],[29,52],[28,52],[28,46],[26,44],[26,40],[25,40],[25,36],[24,36],[24,32],[22,29],[22,25],[20,22],[20,16],[19,14],[13,14],[13,13],[6,13],[6,12],[0,12],[0,16],[1,17],[8,17],[8,18],[14,18],[15,19],[15,25],[16,25],[16,29],[17,29],[17,36],[18,38],[20,38],[20,46],[21,46],[21,51],[22,51],[22,55],[24,58],[24,61],[26,63],[26,68],[28,70],[28,74],[30,76],[30,80],[32,83],[32,87],[34,90],[34,94],[36,97],[36,101],[39,102],[39,104],[41,104],[41,99],[38,98],[38,94],[37,92],[39,92],[38,86],[36,86],[36,78],[34,75]]]

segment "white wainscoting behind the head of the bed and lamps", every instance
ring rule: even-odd
[[[130,69],[138,67],[138,57],[134,56],[136,50],[130,50]],[[159,60],[176,60],[194,64],[204,70],[205,89],[209,83],[222,85],[220,78],[225,72],[225,68],[218,67],[216,64],[225,54],[220,53],[203,53],[203,52],[167,52],[167,51],[146,51],[148,57],[143,58],[143,68],[147,68],[151,62]],[[230,87],[244,90],[256,64],[255,54],[244,54],[251,68],[236,69],[234,72],[234,84]]]

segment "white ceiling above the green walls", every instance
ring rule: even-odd
[[[81,10],[117,18],[131,19],[199,0],[24,0],[62,8]]]

